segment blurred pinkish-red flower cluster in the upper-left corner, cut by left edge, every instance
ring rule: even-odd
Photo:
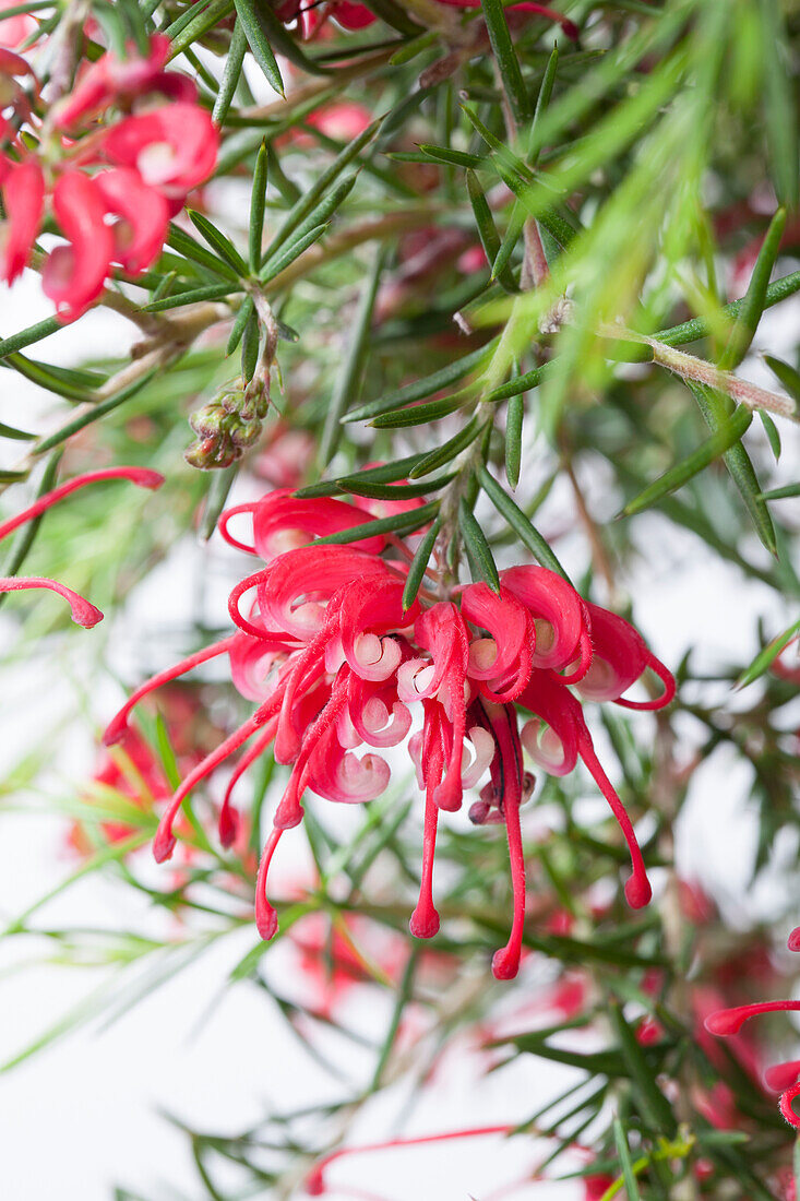
[[[42,287],[62,322],[86,311],[114,267],[139,275],[156,261],[171,215],[216,163],[217,130],[196,84],[165,70],[169,50],[155,34],[147,56],[106,52],[40,120],[32,68],[0,49],[0,277],[13,282],[52,219],[66,244],[44,259]],[[112,106],[127,115],[98,124]]]

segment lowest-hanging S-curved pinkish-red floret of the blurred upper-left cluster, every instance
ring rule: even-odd
[[[61,322],[76,321],[103,288],[114,239],[105,223],[106,205],[94,179],[66,171],[53,191],[53,211],[68,245],[56,246],[42,271],[42,289]]]

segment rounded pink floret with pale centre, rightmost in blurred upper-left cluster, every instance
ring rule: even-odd
[[[209,113],[179,101],[118,121],[103,138],[103,151],[119,167],[135,167],[145,184],[180,207],[214,171],[219,142]]]

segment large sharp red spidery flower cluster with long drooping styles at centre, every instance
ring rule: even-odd
[[[250,545],[229,530],[243,513],[252,521]],[[438,599],[425,586],[404,608],[411,551],[399,539],[388,543],[376,534],[350,545],[308,545],[315,537],[346,534],[374,515],[341,500],[306,501],[281,490],[228,509],[220,522],[222,534],[267,563],[231,593],[237,632],[143,685],[112,721],[106,741],[124,736],[129,713],[143,695],[209,658],[229,656],[233,683],[258,707],[183,781],[161,819],[154,849],[159,861],[169,858],[184,797],[253,739],[220,812],[220,838],[229,844],[237,829],[232,789],[273,743],[276,760],[292,771],[258,873],[256,921],[267,939],[277,928],[267,900],[267,873],[283,831],[303,818],[305,790],[346,803],[376,797],[390,776],[376,752],[408,735],[425,794],[422,889],[411,931],[431,938],[440,922],[432,900],[438,814],[459,809],[464,790],[488,772],[470,818],[506,825],[514,916],[492,970],[498,979],[511,979],[519,966],[525,920],[519,811],[533,787],[523,748],[553,775],[572,771],[579,758],[584,761],[628,843],[628,902],[644,906],[651,892],[633,826],[597,759],[572,689],[584,699],[658,709],[671,700],[674,680],[626,621],[583,600],[566,579],[543,567],[502,572],[497,593],[486,584],[470,584]],[[249,593],[253,599],[245,614],[241,605]],[[627,699],[625,693],[647,668],[662,681],[661,694]],[[525,716],[521,731],[518,710]],[[420,728],[411,733],[414,712]],[[359,759],[354,752],[362,746],[368,749]]]

